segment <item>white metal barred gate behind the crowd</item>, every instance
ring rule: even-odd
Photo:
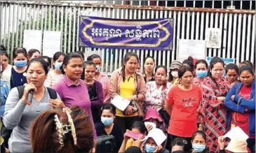
[[[170,66],[177,57],[178,40],[204,40],[206,29],[215,27],[222,29],[222,48],[208,48],[207,56],[234,58],[237,64],[250,60],[255,64],[255,10],[225,9],[223,5],[222,8],[214,8],[214,1],[213,8],[168,7],[167,3],[164,4],[166,6],[141,6],[142,2],[137,5],[133,5],[134,1],[129,5],[123,1],[121,4],[1,2],[1,44],[11,52],[13,48],[22,46],[24,29],[62,31],[63,52],[82,50],[86,57],[100,54],[104,71],[110,74],[121,66],[124,54],[129,51],[139,55],[142,66],[148,55],[156,59],[156,65]],[[156,5],[159,5],[158,1]],[[79,48],[79,15],[120,19],[174,18],[173,51]]]

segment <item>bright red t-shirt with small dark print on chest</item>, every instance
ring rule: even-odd
[[[173,105],[168,133],[190,138],[197,130],[196,110],[202,101],[201,89],[195,85],[184,91],[179,86],[170,89],[167,102]]]

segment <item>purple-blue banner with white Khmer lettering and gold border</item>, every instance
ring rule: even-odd
[[[173,19],[79,18],[79,46],[135,50],[173,50]]]

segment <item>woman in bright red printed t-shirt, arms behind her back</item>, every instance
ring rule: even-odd
[[[192,85],[193,73],[189,66],[181,66],[178,76],[180,85],[170,89],[166,103],[170,115],[167,144],[180,137],[189,142],[191,149],[191,136],[197,131],[196,110],[202,101],[202,92],[198,86]]]

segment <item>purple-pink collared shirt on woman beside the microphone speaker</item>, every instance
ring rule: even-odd
[[[60,99],[63,101],[63,103],[65,103],[67,107],[77,105],[80,108],[86,110],[93,124],[93,116],[90,110],[90,96],[88,94],[86,83],[83,82],[83,80],[79,79],[78,84],[74,85],[72,80],[67,78],[67,76],[64,76],[64,78],[62,78],[62,80],[60,80],[58,84],[53,86],[53,89],[58,92],[58,94],[60,95]],[[94,124],[93,138],[97,139]]]

